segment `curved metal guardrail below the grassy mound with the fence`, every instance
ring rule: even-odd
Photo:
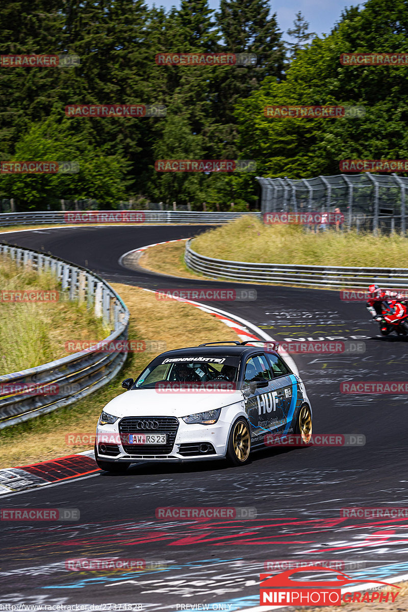
[[[405,268],[297,266],[228,261],[199,255],[191,248],[191,240],[185,245],[184,260],[191,270],[212,278],[333,288],[367,288],[371,283],[379,282],[387,288],[408,288],[408,269]]]

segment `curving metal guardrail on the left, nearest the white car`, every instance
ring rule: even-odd
[[[129,311],[121,297],[102,278],[62,259],[2,243],[0,255],[4,254],[10,255],[17,264],[53,272],[69,299],[78,299],[88,308],[94,308],[95,315],[102,317],[113,330],[98,345],[127,340]],[[125,359],[126,353],[119,349],[104,352],[103,348],[95,347],[35,368],[0,376],[0,429],[80,400],[108,383]]]

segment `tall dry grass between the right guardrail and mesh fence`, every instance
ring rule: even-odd
[[[408,241],[399,234],[374,236],[332,229],[314,234],[302,226],[264,225],[256,217],[242,217],[206,231],[194,239],[192,247],[201,255],[255,263],[404,267],[408,258]]]

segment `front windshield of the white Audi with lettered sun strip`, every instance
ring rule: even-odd
[[[239,358],[228,356],[174,356],[154,359],[133,385],[152,389],[157,383],[236,383]]]

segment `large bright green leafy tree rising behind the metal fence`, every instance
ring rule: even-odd
[[[286,81],[265,79],[237,105],[240,146],[256,159],[259,174],[302,178],[339,174],[341,159],[406,159],[408,75],[406,67],[341,65],[341,53],[405,53],[408,6],[368,0],[338,28],[300,51]],[[265,118],[267,105],[357,105],[363,118]]]

